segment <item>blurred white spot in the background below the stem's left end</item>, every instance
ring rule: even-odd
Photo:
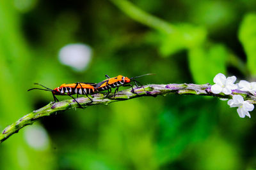
[[[26,127],[24,137],[26,143],[35,150],[45,150],[49,147],[48,134],[41,125]]]

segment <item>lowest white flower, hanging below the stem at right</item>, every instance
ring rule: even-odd
[[[244,118],[247,116],[251,118],[251,115],[248,111],[252,111],[254,106],[253,104],[248,103],[248,101],[244,101],[244,98],[241,95],[234,95],[233,99],[228,101],[228,105],[230,108],[238,107],[237,113],[239,117]]]

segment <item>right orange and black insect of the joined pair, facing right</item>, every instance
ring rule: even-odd
[[[141,76],[147,76],[147,75],[154,75],[154,74],[143,74]],[[111,88],[116,88],[115,93],[114,93],[114,96],[115,96],[116,92],[118,92],[118,87],[120,87],[120,86],[124,86],[124,87],[131,86],[132,92],[134,92],[133,86],[131,84],[129,84],[129,83],[131,83],[131,81],[134,81],[136,87],[138,87],[138,84],[141,85],[141,83],[139,81],[135,80],[135,78],[139,78],[141,76],[136,76],[133,78],[128,78],[128,77],[121,76],[121,75],[113,77],[113,78],[110,78],[108,75],[105,75],[105,76],[108,79],[101,81],[100,83],[97,83],[97,85],[93,85],[93,86],[99,92],[103,91],[103,90],[108,90],[107,96],[111,92]],[[143,85],[141,85],[141,87],[143,87]]]

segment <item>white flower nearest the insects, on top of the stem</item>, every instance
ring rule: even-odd
[[[236,76],[226,78],[224,74],[218,73],[213,79],[213,82],[216,84],[212,85],[211,91],[214,94],[221,92],[226,95],[231,94],[232,90],[237,89],[237,85],[234,84],[235,81]]]

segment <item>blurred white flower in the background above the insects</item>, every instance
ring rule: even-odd
[[[69,44],[60,49],[59,59],[75,71],[84,71],[92,59],[92,48],[84,44]]]

